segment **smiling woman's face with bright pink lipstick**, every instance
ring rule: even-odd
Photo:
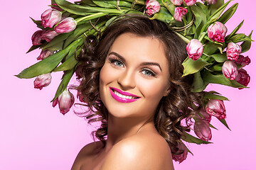
[[[100,98],[118,118],[149,118],[169,94],[169,64],[156,38],[124,33],[114,40],[100,71]]]

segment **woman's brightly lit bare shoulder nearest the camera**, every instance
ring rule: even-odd
[[[101,170],[174,169],[169,145],[159,134],[138,134],[118,142]]]

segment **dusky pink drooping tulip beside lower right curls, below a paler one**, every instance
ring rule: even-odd
[[[212,137],[209,123],[206,120],[196,120],[194,131],[201,140],[208,141]]]

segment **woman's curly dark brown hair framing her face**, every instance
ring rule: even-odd
[[[120,16],[107,26],[98,40],[92,36],[85,40],[85,47],[78,56],[82,80],[77,87],[78,93],[82,94],[80,100],[90,108],[85,118],[89,123],[101,121],[101,127],[93,132],[93,135],[102,141],[105,147],[108,112],[100,100],[100,69],[105,64],[114,40],[123,33],[156,38],[165,46],[166,58],[169,61],[171,92],[169,96],[161,98],[154,115],[154,125],[168,142],[173,154],[177,154],[178,140],[184,131],[189,130],[188,120],[202,106],[201,94],[191,92],[193,75],[182,77],[182,62],[187,57],[186,43],[161,21],[151,20],[147,16]],[[194,103],[198,105],[195,106]],[[183,119],[186,120],[186,125],[181,125]]]

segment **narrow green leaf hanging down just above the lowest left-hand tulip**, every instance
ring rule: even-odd
[[[75,69],[70,69],[63,74],[62,81],[60,82],[60,85],[58,86],[58,89],[57,89],[56,94],[52,101],[54,101],[56,98],[58,98],[58,96],[60,96],[60,94],[62,94],[63,91],[65,91],[65,89],[67,89],[68,83],[69,83],[71,77],[73,76],[74,72],[75,72]],[[50,102],[52,102],[52,101],[50,101]]]

